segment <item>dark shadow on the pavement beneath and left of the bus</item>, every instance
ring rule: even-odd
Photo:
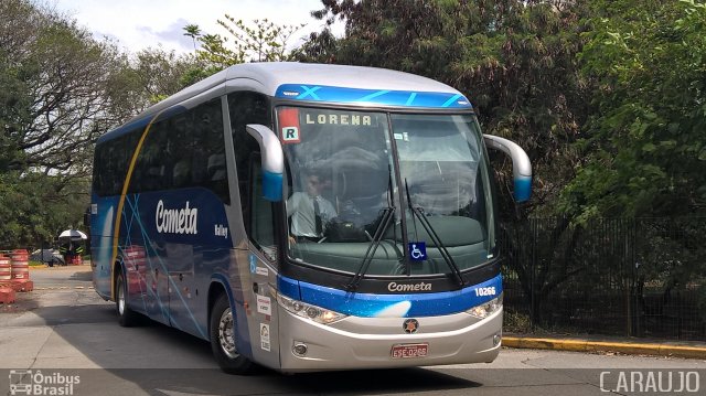
[[[74,393],[77,395],[126,394],[126,386],[160,395],[376,395],[481,386],[472,381],[424,368],[286,375],[258,366],[248,376],[229,375],[217,368],[208,342],[146,318],[137,327],[120,328],[115,308],[110,304],[43,307],[32,312],[41,318],[41,322],[53,327],[54,334],[62,339],[58,340],[60,344],[77,350],[79,353],[72,353],[105,367],[74,370],[75,366],[66,364],[61,370],[43,368],[47,363],[46,367],[55,367],[55,361],[49,356],[36,361],[33,367],[43,372],[56,371],[64,375],[78,373],[82,384],[76,389],[81,392]],[[28,320],[17,324],[40,323]],[[60,350],[50,344],[44,349]]]

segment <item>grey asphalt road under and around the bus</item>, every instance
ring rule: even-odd
[[[259,368],[234,376],[217,370],[204,341],[150,321],[120,328],[114,306],[92,289],[88,266],[32,269],[31,279],[35,291],[0,306],[0,395],[11,394],[10,383],[40,385],[33,389],[43,394],[131,396],[579,396],[706,389],[705,361],[511,349],[492,364],[298,375]],[[650,377],[660,375],[661,389],[668,392],[659,392],[656,384],[654,393],[640,392],[652,390]]]

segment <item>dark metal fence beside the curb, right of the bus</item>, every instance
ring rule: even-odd
[[[706,218],[502,225],[505,328],[706,340]]]

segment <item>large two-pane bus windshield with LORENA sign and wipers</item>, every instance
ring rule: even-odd
[[[370,260],[364,276],[410,276],[495,254],[474,116],[279,107],[277,122],[293,261],[359,274]]]

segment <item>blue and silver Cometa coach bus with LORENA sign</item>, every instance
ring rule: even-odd
[[[471,103],[360,66],[231,66],[101,136],[93,283],[211,343],[228,373],[492,362],[498,206]]]

